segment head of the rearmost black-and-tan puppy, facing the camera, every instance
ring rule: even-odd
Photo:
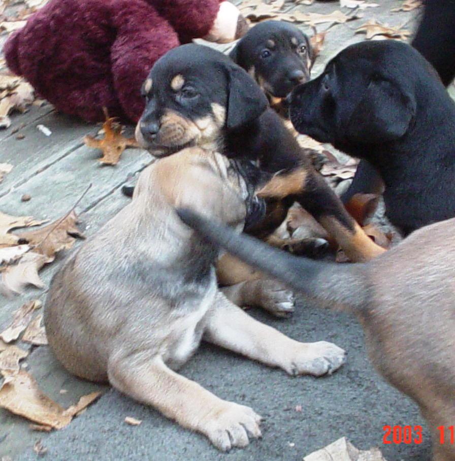
[[[313,52],[296,26],[264,21],[252,27],[230,54],[269,96],[285,97],[310,79]]]

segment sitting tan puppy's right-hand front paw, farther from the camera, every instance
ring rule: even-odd
[[[331,375],[346,361],[346,352],[333,343],[300,343],[289,357],[290,375]]]

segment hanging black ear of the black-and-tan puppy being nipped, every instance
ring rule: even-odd
[[[253,121],[269,102],[259,85],[238,65],[229,70],[229,96],[226,128],[235,129]]]

